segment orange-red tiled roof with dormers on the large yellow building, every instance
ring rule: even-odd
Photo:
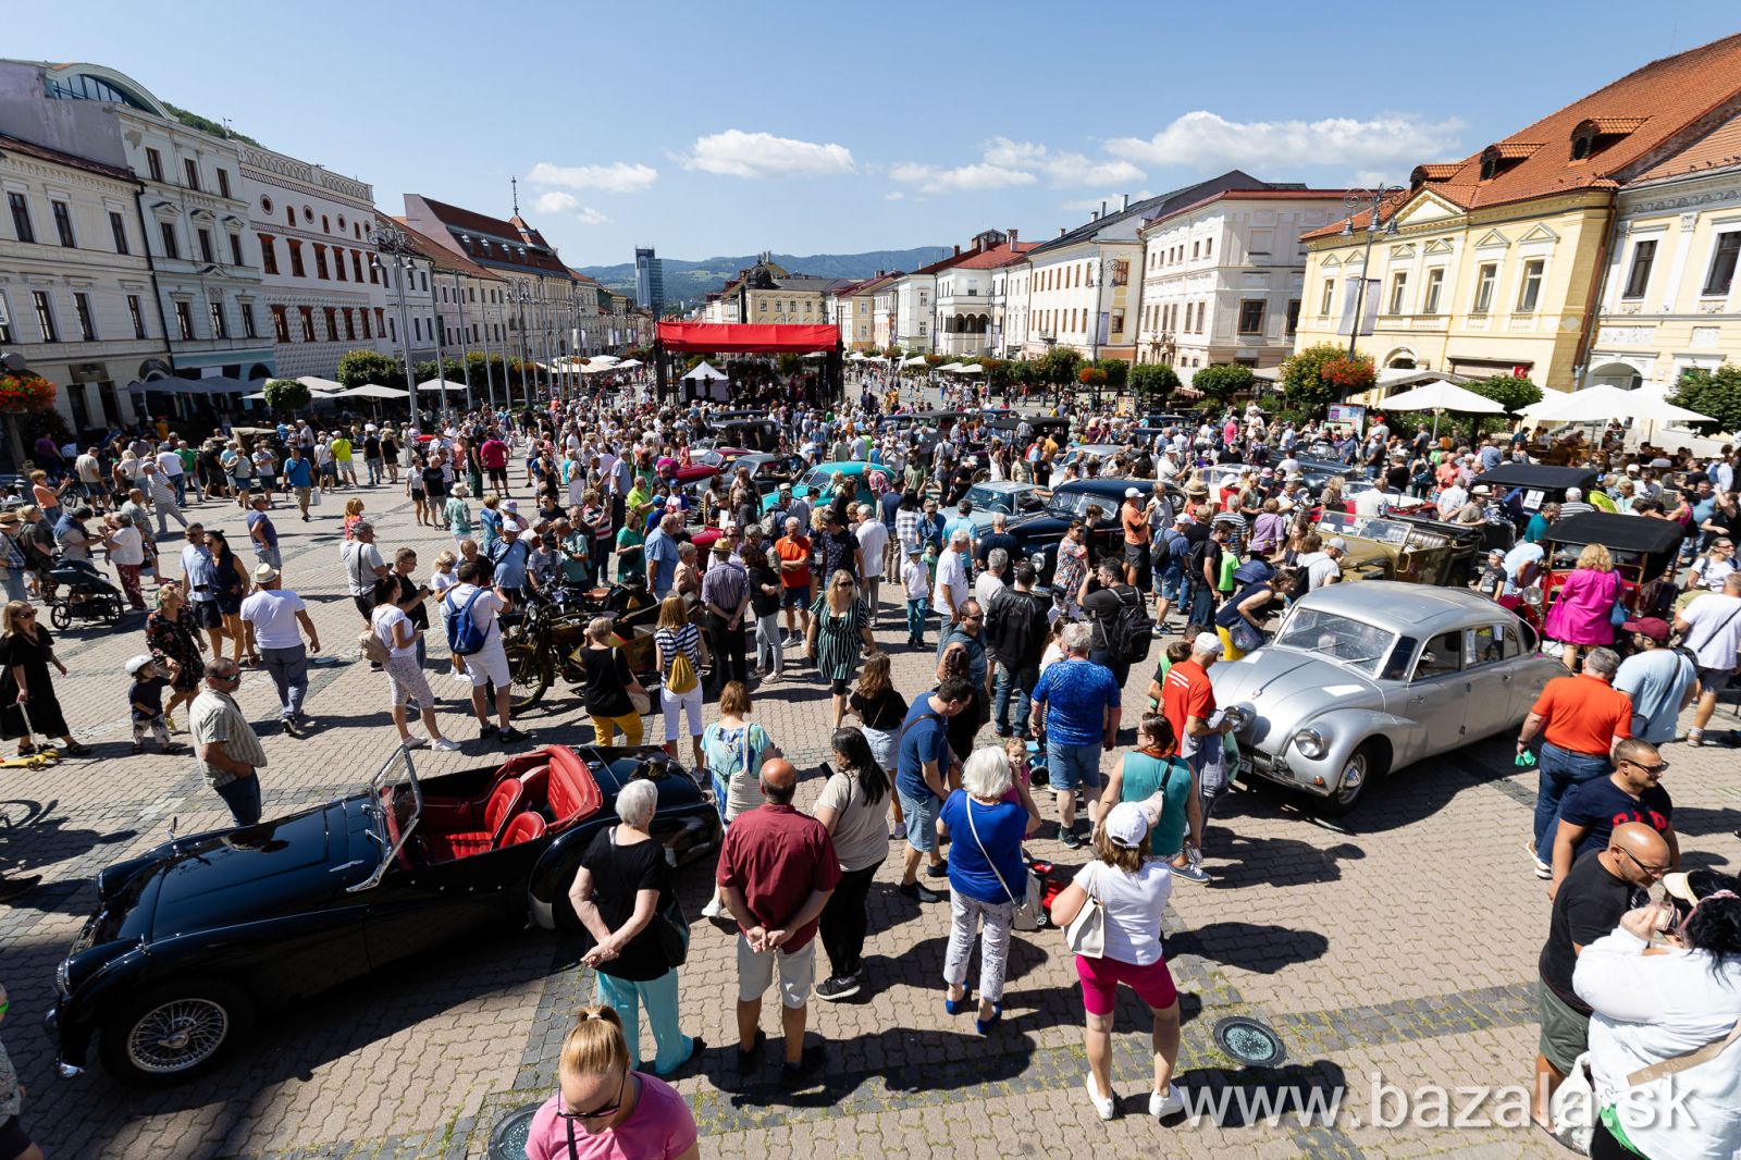
[[[1548,113],[1536,124],[1466,157],[1449,176],[1440,165],[1415,171],[1433,193],[1464,209],[1506,206],[1576,190],[1616,188],[1664,155],[1706,134],[1741,106],[1741,33],[1678,56],[1650,61],[1590,96]],[[1577,129],[1591,122],[1610,138],[1584,158],[1572,158]],[[1482,178],[1482,157],[1494,150],[1509,162]],[[1431,169],[1433,172],[1424,172]],[[1393,202],[1400,209],[1408,199]],[[1395,209],[1391,211],[1395,212]],[[1382,216],[1389,216],[1388,212]],[[1367,214],[1354,216],[1365,226]],[[1306,239],[1327,237],[1335,223]]]

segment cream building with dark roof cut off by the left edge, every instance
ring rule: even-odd
[[[56,385],[75,432],[132,422],[117,385],[169,369],[139,188],[125,169],[0,134],[0,348]]]

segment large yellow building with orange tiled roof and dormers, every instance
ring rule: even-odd
[[[1645,64],[1461,162],[1417,165],[1370,212],[1302,237],[1295,348],[1379,368],[1588,383],[1617,190],[1741,105],[1741,37]],[[1722,117],[1713,117],[1724,110]]]

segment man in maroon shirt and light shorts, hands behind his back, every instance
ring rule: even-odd
[[[792,808],[797,770],[775,758],[761,768],[764,805],[740,813],[719,852],[719,885],[738,921],[738,1075],[749,1075],[768,1040],[761,998],[780,967],[785,1068],[796,1085],[822,1062],[804,1050],[810,986],[817,977],[817,920],[841,880],[834,841],[822,822]]]

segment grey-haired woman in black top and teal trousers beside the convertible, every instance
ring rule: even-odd
[[[568,900],[590,944],[581,963],[599,975],[597,1002],[623,1019],[630,1068],[641,1066],[641,1007],[653,1024],[653,1075],[670,1075],[703,1043],[677,1026],[677,960],[689,923],[670,885],[665,846],[648,827],[658,787],[632,780],[616,794],[618,826],[599,831],[575,871]]]

